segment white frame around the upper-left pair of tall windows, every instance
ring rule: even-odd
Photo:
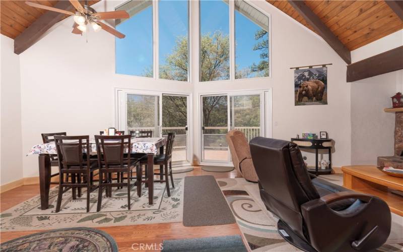
[[[136,0],[133,0],[136,1]],[[159,66],[159,5],[158,2],[159,0],[150,0],[153,2],[152,4],[152,13],[153,13],[153,77],[145,77],[145,76],[138,76],[138,75],[125,75],[125,74],[119,74],[116,73],[116,62],[114,65],[115,68],[115,74],[116,75],[123,75],[123,76],[131,76],[131,77],[136,77],[136,78],[144,78],[147,80],[159,80],[159,81],[167,81],[167,82],[176,82],[176,83],[185,83],[189,84],[191,83],[191,70],[192,70],[192,18],[191,18],[191,13],[192,13],[192,0],[186,0],[187,1],[187,18],[188,18],[188,69],[187,69],[187,81],[176,81],[176,80],[167,80],[167,79],[161,79],[159,77],[160,75],[160,66]],[[114,9],[116,10],[120,6],[123,6],[127,2],[124,2],[123,4],[116,6]],[[115,40],[115,61],[116,61],[116,40]]]

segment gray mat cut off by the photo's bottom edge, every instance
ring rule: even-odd
[[[247,251],[240,235],[164,240],[162,251]]]

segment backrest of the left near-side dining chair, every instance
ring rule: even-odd
[[[68,169],[69,166],[84,165],[90,168],[90,137],[89,136],[54,136],[57,152],[57,160],[60,169]],[[83,153],[86,153],[85,159]]]

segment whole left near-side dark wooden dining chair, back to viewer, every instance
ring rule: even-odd
[[[87,188],[87,212],[90,211],[90,193],[98,188],[94,185],[94,171],[98,162],[90,158],[89,136],[54,136],[59,165],[59,188],[57,194],[56,213],[60,211],[63,193],[72,189],[73,200],[81,197],[81,188]],[[71,182],[63,181],[64,175],[71,176]],[[81,178],[83,177],[83,181]],[[77,179],[77,180],[76,180]]]

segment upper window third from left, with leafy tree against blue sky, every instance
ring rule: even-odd
[[[230,78],[228,1],[200,0],[200,81]]]

